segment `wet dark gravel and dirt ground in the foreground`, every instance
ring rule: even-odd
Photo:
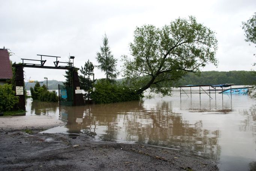
[[[95,141],[90,135],[76,138],[65,134],[33,133],[2,126],[0,118],[0,170],[87,170],[87,171],[217,171],[217,163],[189,152],[144,144]],[[63,124],[56,122],[57,125]],[[22,125],[22,124],[21,124]],[[51,126],[44,124],[44,128]],[[26,127],[25,127],[26,128]],[[20,129],[20,130],[18,130]]]

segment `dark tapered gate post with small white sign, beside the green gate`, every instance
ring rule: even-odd
[[[74,68],[72,70],[72,73],[73,73],[72,86],[73,86],[73,96],[74,96],[74,103],[73,104],[74,104],[74,106],[82,106],[82,105],[84,105],[84,98],[83,98],[82,90],[76,91],[77,87],[80,88],[80,83],[79,83],[77,70]]]

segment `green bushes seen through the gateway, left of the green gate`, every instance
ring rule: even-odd
[[[57,102],[59,98],[56,95],[55,91],[47,91],[46,86],[43,85],[40,87],[39,82],[36,82],[36,85],[33,88],[30,88],[31,97],[33,100],[47,101],[47,102]]]

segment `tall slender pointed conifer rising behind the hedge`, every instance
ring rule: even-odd
[[[108,38],[107,35],[102,39],[103,46],[100,47],[100,52],[97,52],[97,61],[99,65],[97,68],[101,69],[105,72],[106,79],[114,82],[114,79],[119,75],[119,72],[116,70],[116,62],[117,59],[113,57],[110,51],[110,47],[108,46]]]

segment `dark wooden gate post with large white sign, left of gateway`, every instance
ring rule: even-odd
[[[16,72],[15,72],[14,91],[15,91],[15,95],[19,97],[19,103],[17,104],[16,108],[26,111],[23,67],[16,65],[15,68],[16,68]]]

